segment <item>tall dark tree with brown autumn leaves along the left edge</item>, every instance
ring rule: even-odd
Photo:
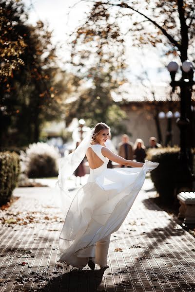
[[[22,2],[0,3],[0,144],[28,145],[62,112],[56,49],[41,21],[27,24]]]

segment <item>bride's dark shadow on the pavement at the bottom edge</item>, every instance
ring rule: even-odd
[[[73,270],[52,279],[41,292],[96,292],[104,271]]]

